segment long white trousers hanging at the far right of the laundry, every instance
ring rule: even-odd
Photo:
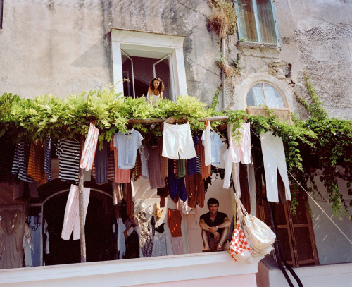
[[[282,138],[272,135],[272,132],[269,131],[260,135],[260,142],[263,152],[266,196],[268,201],[279,202],[279,193],[277,190],[277,169],[279,170],[282,181],[284,182],[286,199],[291,200]]]

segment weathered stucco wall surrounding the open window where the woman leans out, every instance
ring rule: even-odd
[[[0,93],[65,97],[108,85],[115,27],[187,35],[188,92],[207,100],[220,84],[217,38],[206,25],[209,11],[206,1],[5,1]]]

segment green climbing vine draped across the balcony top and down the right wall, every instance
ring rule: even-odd
[[[337,180],[346,180],[351,196],[352,121],[312,112],[307,121],[300,121],[294,116],[294,124],[290,126],[278,121],[270,109],[270,116],[266,118],[248,116],[245,111],[216,111],[216,105],[217,99],[207,107],[195,97],[180,96],[176,102],[165,99],[154,107],[146,102],[145,97],[121,97],[111,87],[69,95],[65,99],[52,94],[21,99],[5,93],[0,97],[0,138],[18,142],[44,140],[46,135],[50,135],[54,140],[78,140],[87,134],[89,122],[94,122],[99,128],[99,141],[103,142],[104,139],[111,140],[117,131],[124,132],[127,128],[137,128],[146,135],[160,136],[162,133],[161,123],[128,123],[130,119],[187,118],[191,130],[201,131],[204,123],[199,122],[199,118],[228,116],[227,121],[213,121],[213,128],[227,122],[234,123],[233,130],[236,130],[241,123],[249,121],[256,135],[267,130],[279,135],[284,141],[289,173],[298,179],[303,188],[318,195],[321,192],[314,178],[319,176],[327,188],[328,201],[334,214],[347,214],[347,204],[339,192]],[[312,111],[321,109],[319,103],[310,105]],[[308,181],[313,182],[313,187],[308,186]],[[295,184],[293,178],[291,183]]]

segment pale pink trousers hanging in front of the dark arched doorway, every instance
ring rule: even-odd
[[[66,203],[65,217],[63,219],[63,231],[61,238],[70,240],[73,232],[73,240],[80,239],[80,208],[79,208],[79,193],[77,185],[71,185],[70,193]],[[86,220],[88,203],[89,203],[90,188],[83,188],[83,210],[84,222]]]

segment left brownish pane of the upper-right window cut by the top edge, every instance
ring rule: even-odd
[[[240,37],[246,41],[258,42],[252,0],[240,0],[238,5],[239,25],[241,28]]]

